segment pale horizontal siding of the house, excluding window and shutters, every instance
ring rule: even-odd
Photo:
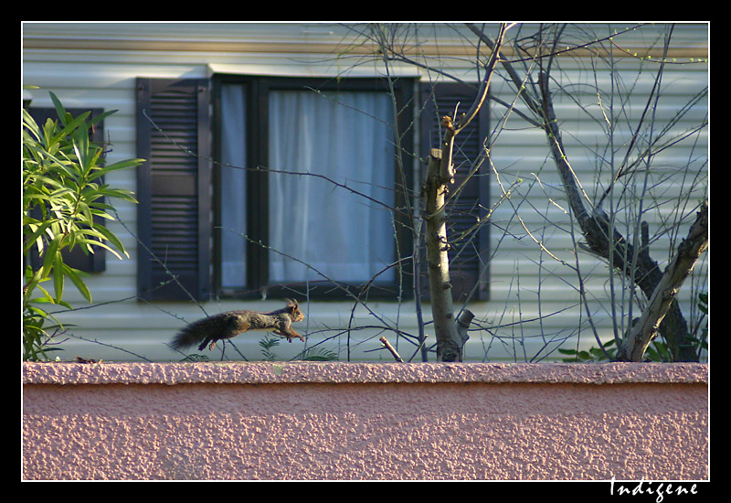
[[[597,33],[605,33],[608,28],[595,27]],[[470,48],[466,32],[453,27],[419,26],[419,34],[429,38],[428,45],[436,48]],[[654,40],[659,31],[637,30],[632,37],[623,38],[631,47],[647,45]],[[136,155],[134,144],[134,83],[137,77],[157,78],[200,78],[207,77],[212,70],[251,71],[259,73],[301,74],[301,75],[376,75],[378,69],[372,63],[359,64],[353,70],[346,70],[355,63],[362,63],[363,56],[347,53],[323,59],[322,54],[302,53],[302,48],[287,46],[310,44],[308,50],[332,50],[333,47],[347,47],[355,37],[354,32],[340,26],[304,26],[291,24],[271,25],[229,25],[189,26],[181,31],[176,24],[143,25],[95,25],[95,24],[30,24],[24,25],[24,37],[33,41],[32,48],[24,50],[23,80],[26,84],[38,85],[42,90],[31,91],[33,106],[51,106],[47,90],[54,91],[69,107],[102,107],[105,110],[117,109],[119,112],[105,120],[105,135],[111,140],[111,161],[130,158]],[[703,58],[707,54],[707,27],[679,25],[673,39],[677,42],[677,54],[693,54]],[[104,50],[89,48],[88,44],[78,44],[80,48],[69,48],[69,41],[105,41],[109,48]],[[148,48],[124,48],[122,42],[149,42]],[[196,42],[200,42],[196,45]],[[216,46],[204,42],[217,43]],[[118,45],[114,45],[117,43]],[[169,44],[167,46],[162,43]],[[243,44],[248,44],[244,46]],[[237,48],[259,48],[261,52],[238,52]],[[303,46],[302,46],[303,47]],[[432,50],[432,49],[429,49]],[[277,52],[279,51],[279,52]],[[684,51],[684,52],[683,52]],[[457,59],[455,59],[457,61]],[[452,62],[452,61],[450,61]],[[459,63],[458,63],[459,64]],[[637,59],[620,59],[618,64],[624,70],[622,84],[633,86],[630,103],[626,107],[627,121],[637,121],[641,116],[647,93],[652,89],[652,78],[656,66],[644,63],[642,72]],[[594,74],[588,70],[587,59],[562,59],[563,74],[561,83],[583,82],[586,85],[574,93],[583,105],[583,110],[566,97],[556,93],[556,115],[564,131],[564,143],[571,165],[577,172],[588,197],[596,199],[606,187],[611,174],[603,168],[599,180],[593,174],[598,161],[594,148],[602,139],[605,124],[601,120],[598,96],[591,91]],[[413,75],[413,68],[396,69],[397,72]],[[467,68],[455,68],[464,79],[474,76]],[[673,118],[678,107],[690,99],[708,83],[705,64],[669,65],[663,76],[665,93],[661,106],[655,109],[659,121]],[[422,79],[430,77],[421,72]],[[640,80],[635,83],[635,80]],[[597,74],[599,86],[609,89],[608,74]],[[556,86],[552,89],[556,90]],[[506,102],[514,99],[512,89],[499,79],[493,80],[493,93]],[[609,95],[602,95],[602,103],[609,103]],[[495,130],[503,119],[503,109],[493,106]],[[676,126],[677,131],[693,127],[707,115],[707,98],[698,102],[692,112]],[[620,131],[616,142],[627,142],[629,131]],[[657,182],[655,192],[662,197],[657,201],[659,211],[647,214],[651,233],[673,222],[674,215],[680,210],[674,204],[664,201],[683,196],[688,205],[703,197],[705,184],[700,183],[695,192],[688,194],[678,176],[673,176],[677,166],[683,166],[688,159],[694,159],[694,166],[707,173],[707,131],[697,136],[696,143],[686,143],[658,155],[658,169],[653,172],[653,183]],[[491,229],[490,262],[490,301],[474,303],[469,307],[476,320],[470,333],[466,355],[470,359],[491,361],[524,360],[538,355],[539,359],[556,358],[556,348],[560,344],[567,347],[590,347],[595,344],[591,326],[585,310],[579,305],[577,273],[574,270],[577,258],[573,252],[573,241],[578,240],[576,233],[570,233],[571,225],[565,210],[567,203],[561,191],[560,179],[550,158],[547,158],[546,138],[526,124],[516,115],[511,115],[506,129],[499,132],[492,148],[493,164],[505,187],[518,178],[522,182],[513,187],[511,202],[525,227],[538,241],[543,241],[548,252],[567,262],[556,262],[546,251],[542,252],[535,241],[526,234],[523,226],[515,218],[515,208],[510,202],[496,208],[493,212]],[[615,157],[621,157],[624,150],[617,148]],[[655,175],[655,173],[657,175]],[[659,181],[658,181],[659,180]],[[111,173],[107,181],[112,187],[135,190],[136,177],[133,171]],[[638,186],[640,189],[641,186]],[[525,200],[522,201],[522,197]],[[491,176],[491,201],[500,198],[500,187]],[[552,200],[549,200],[551,198]],[[521,202],[522,201],[522,202]],[[519,204],[520,203],[520,204]],[[144,304],[134,300],[136,293],[135,273],[137,245],[135,230],[137,209],[134,205],[118,202],[118,214],[123,222],[110,224],[130,252],[131,258],[118,261],[108,255],[104,273],[93,275],[88,280],[94,296],[92,306],[85,304],[73,287],[67,287],[68,298],[76,309],[63,313],[65,322],[75,325],[70,331],[79,337],[99,341],[82,342],[69,338],[62,345],[65,351],[62,358],[74,355],[94,359],[176,359],[175,353],[165,348],[176,329],[185,322],[204,316],[201,307],[185,303]],[[629,222],[633,224],[633,221]],[[652,243],[652,257],[664,264],[669,258],[669,250],[687,232],[687,221],[669,236]],[[619,229],[626,233],[628,222],[620,221]],[[508,231],[503,237],[502,230]],[[586,282],[590,309],[599,335],[607,340],[612,337],[609,305],[609,272],[606,263],[580,253],[580,270],[591,273]],[[683,306],[689,323],[696,316],[694,301],[689,298],[690,286],[707,290],[707,263],[696,267],[694,276],[683,287]],[[616,279],[618,294],[626,294],[623,285]],[[124,300],[127,299],[127,300]],[[540,303],[538,301],[541,301]],[[277,308],[278,301],[236,301],[209,302],[204,305],[207,314],[215,314],[234,308],[269,310]],[[341,359],[347,357],[350,344],[352,359],[380,359],[390,361],[385,351],[367,352],[380,347],[378,337],[386,336],[397,344],[402,356],[410,357],[414,348],[406,339],[397,338],[393,331],[364,328],[379,326],[381,321],[368,313],[363,307],[355,309],[351,318],[352,303],[328,302],[304,303],[306,320],[302,331],[311,334],[307,346],[322,346],[336,351]],[[378,316],[386,319],[391,328],[409,334],[417,333],[417,317],[413,301],[402,305],[395,303],[370,303]],[[619,305],[618,305],[619,307]],[[424,306],[425,318],[429,319],[429,306]],[[637,316],[637,309],[633,316]],[[693,315],[689,313],[694,312]],[[547,316],[550,315],[550,316]],[[535,321],[541,318],[540,321]],[[357,327],[349,336],[348,327]],[[429,334],[429,325],[426,326]],[[259,340],[261,333],[234,339],[237,347],[248,359],[260,359]],[[433,342],[433,333],[429,337]],[[117,349],[117,348],[123,348]],[[292,358],[302,344],[282,343],[274,349],[282,359]],[[217,358],[219,353],[213,353]],[[232,353],[228,353],[232,356]],[[418,359],[418,358],[417,358]]]

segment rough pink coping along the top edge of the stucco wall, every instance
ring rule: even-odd
[[[23,363],[23,384],[707,384],[701,363]]]

